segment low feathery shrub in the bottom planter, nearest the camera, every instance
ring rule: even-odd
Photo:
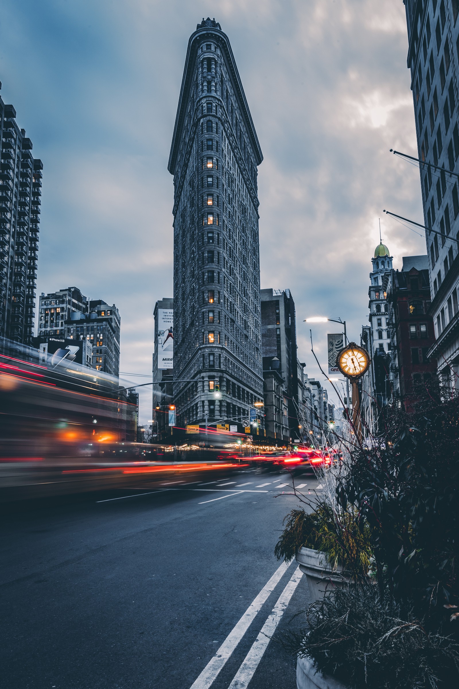
[[[459,686],[459,646],[429,633],[413,608],[377,586],[336,589],[312,604],[308,628],[284,635],[289,650],[352,689]]]

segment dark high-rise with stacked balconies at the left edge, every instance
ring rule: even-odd
[[[1,88],[1,83],[0,83]],[[0,337],[32,343],[43,164],[0,98]]]

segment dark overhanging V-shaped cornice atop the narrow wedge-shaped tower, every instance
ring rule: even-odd
[[[239,102],[239,109],[244,118],[244,123],[246,125],[247,134],[252,143],[253,152],[256,157],[256,163],[259,165],[263,160],[263,154],[261,153],[261,148],[257,138],[257,133],[255,132],[255,126],[253,125],[252,116],[250,115],[250,110],[248,109],[248,103],[246,96],[244,94],[244,89],[242,88],[242,81],[237,71],[236,62],[233,55],[233,50],[231,50],[231,45],[228,37],[222,30],[214,28],[212,26],[206,26],[199,28],[193,34],[188,42],[188,48],[186,50],[186,60],[185,67],[182,77],[182,86],[180,88],[180,98],[178,101],[177,115],[175,116],[175,125],[173,130],[171,152],[169,154],[169,163],[167,169],[171,174],[175,174],[175,165],[177,163],[178,151],[180,148],[180,141],[182,138],[182,130],[184,127],[184,121],[186,116],[186,106],[189,101],[190,90],[193,85],[193,73],[195,69],[195,63],[198,59],[198,47],[202,41],[209,40],[213,41],[215,45],[218,45],[222,54],[226,58],[226,67],[232,77],[232,85],[235,90],[235,96]],[[210,95],[210,94],[209,94]]]

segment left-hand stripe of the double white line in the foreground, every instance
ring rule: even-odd
[[[228,658],[231,657],[237,644],[239,644],[239,641],[250,627],[250,624],[252,624],[259,613],[259,610],[261,610],[261,607],[264,606],[270,594],[273,593],[273,590],[276,588],[277,584],[279,584],[288,567],[289,565],[283,562],[281,566],[277,568],[268,583],[264,585],[253,603],[250,603],[244,615],[242,615],[241,619],[239,619],[235,627],[228,634],[214,657],[209,661],[204,670],[202,670],[198,679],[193,682],[190,689],[209,689]]]

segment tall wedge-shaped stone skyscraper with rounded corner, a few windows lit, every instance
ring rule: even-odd
[[[174,384],[181,426],[241,422],[263,399],[262,160],[228,37],[215,20],[203,19],[189,39],[168,166],[174,181],[173,377],[186,381]]]

